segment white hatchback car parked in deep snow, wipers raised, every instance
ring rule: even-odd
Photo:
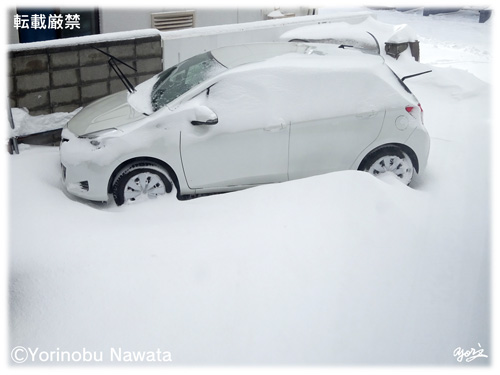
[[[258,43],[194,56],[63,129],[66,189],[120,205],[333,171],[427,164],[422,109],[380,56],[326,44]]]

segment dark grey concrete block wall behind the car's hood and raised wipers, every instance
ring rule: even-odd
[[[120,65],[132,84],[163,70],[159,35],[9,52],[8,84],[11,107],[30,114],[70,112],[103,96],[124,90],[107,64],[106,51],[137,69]]]

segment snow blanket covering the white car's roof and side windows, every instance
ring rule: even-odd
[[[281,49],[282,54],[274,53],[274,57],[262,61],[241,63],[205,83],[204,87],[217,81],[219,94],[211,91],[211,97],[227,95],[241,98],[236,100],[241,103],[238,105],[251,105],[247,92],[259,92],[267,98],[265,104],[258,105],[266,107],[261,115],[278,121],[279,113],[287,113],[295,122],[347,116],[365,106],[370,110],[404,107],[405,103],[414,101],[413,95],[405,91],[379,55],[331,44],[295,42],[249,45],[248,51],[271,54],[269,48],[272,46],[277,47],[275,51]],[[217,51],[213,55],[217,56]],[[242,55],[240,58],[240,62],[245,60]],[[193,94],[186,99],[190,97]],[[179,98],[179,102],[173,102],[172,108],[182,101],[183,98]]]

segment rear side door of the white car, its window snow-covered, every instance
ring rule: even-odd
[[[378,98],[386,92],[359,71],[316,72],[296,81],[307,94],[296,100],[301,105],[291,118],[289,178],[351,168],[381,131],[385,107]]]

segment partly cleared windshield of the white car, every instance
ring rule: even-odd
[[[151,91],[153,110],[157,111],[194,86],[226,69],[210,52],[207,52],[165,70],[159,75]]]

